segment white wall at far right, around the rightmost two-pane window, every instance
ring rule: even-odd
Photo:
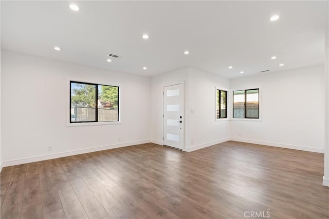
[[[323,71],[318,65],[232,79],[232,90],[261,89],[262,121],[231,121],[231,138],[323,153]]]

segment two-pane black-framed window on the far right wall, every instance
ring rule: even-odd
[[[259,118],[259,89],[233,91],[233,118]]]

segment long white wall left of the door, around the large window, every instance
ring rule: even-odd
[[[69,78],[121,85],[122,124],[67,127]],[[1,85],[4,166],[149,142],[149,77],[3,51]]]

